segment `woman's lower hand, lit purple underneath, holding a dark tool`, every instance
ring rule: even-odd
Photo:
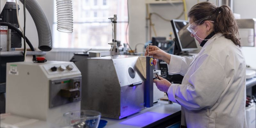
[[[153,82],[156,83],[156,87],[162,92],[167,92],[169,87],[171,86],[171,83],[160,76],[159,76],[159,79],[160,80],[158,79],[153,80]]]

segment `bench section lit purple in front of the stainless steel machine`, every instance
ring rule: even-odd
[[[168,101],[158,100],[151,108],[146,108],[127,118],[110,119],[105,128],[140,128],[140,127],[168,127],[180,122],[181,106],[177,103],[168,104]]]

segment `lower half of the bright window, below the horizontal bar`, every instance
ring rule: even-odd
[[[54,24],[57,27],[57,24]],[[125,41],[125,29],[127,23],[116,25],[116,39],[123,45]],[[62,33],[53,30],[55,48],[95,48],[110,49],[108,43],[112,42],[111,23],[76,23],[73,33]],[[128,34],[128,33],[127,33]],[[127,37],[129,37],[127,35]]]

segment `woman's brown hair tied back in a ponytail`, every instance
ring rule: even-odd
[[[203,19],[207,16],[211,16],[211,18],[206,20],[214,21],[215,33],[219,32],[224,34],[227,39],[232,40],[234,44],[241,47],[241,43],[236,37],[236,34],[238,34],[238,26],[231,9],[227,5],[216,7],[212,3],[201,2],[194,5],[188,12],[188,17],[193,18],[194,21]]]

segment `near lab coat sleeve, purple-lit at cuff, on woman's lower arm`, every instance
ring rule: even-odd
[[[190,84],[172,84],[168,89],[169,100],[188,110],[211,108],[228,85],[225,69],[217,59],[208,55],[198,59],[192,75],[184,77]]]

